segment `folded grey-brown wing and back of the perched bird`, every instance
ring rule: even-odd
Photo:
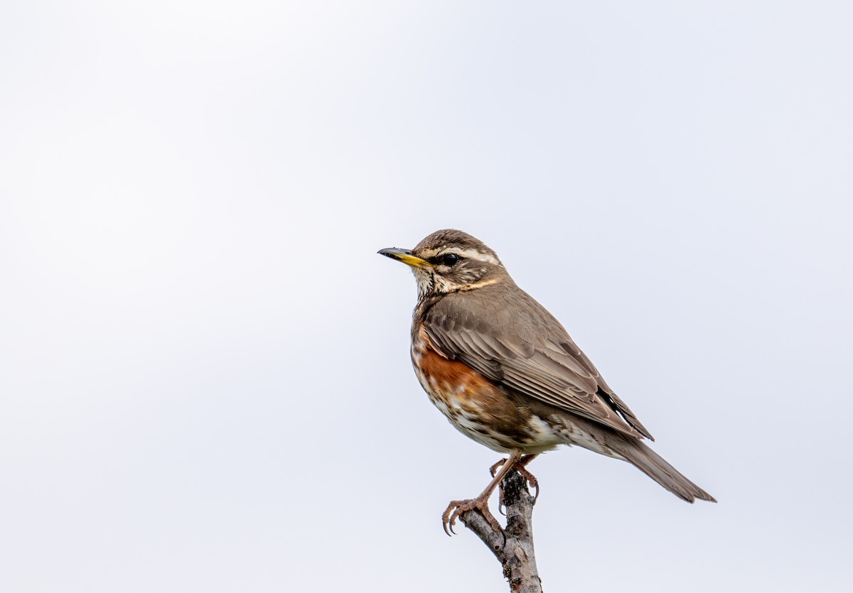
[[[440,354],[493,381],[653,440],[560,322],[511,280],[442,298],[424,314],[423,327]]]

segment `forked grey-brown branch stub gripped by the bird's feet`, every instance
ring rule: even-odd
[[[542,579],[533,553],[533,497],[527,481],[514,469],[503,479],[507,527],[496,532],[479,510],[460,515],[462,523],[489,547],[503,566],[511,593],[542,593]]]

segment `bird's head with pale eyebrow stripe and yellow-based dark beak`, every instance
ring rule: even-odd
[[[509,277],[488,245],[452,228],[427,235],[414,249],[392,247],[379,253],[412,268],[419,299],[470,291]]]

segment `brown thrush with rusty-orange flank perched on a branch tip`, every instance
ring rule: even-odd
[[[488,245],[444,229],[413,249],[378,253],[415,274],[411,360],[421,387],[463,435],[508,456],[492,466],[479,496],[450,502],[445,533],[475,509],[500,532],[488,508],[496,486],[516,469],[538,493],[525,466],[561,445],[631,463],[688,503],[717,502],[646,445],[651,433]]]

